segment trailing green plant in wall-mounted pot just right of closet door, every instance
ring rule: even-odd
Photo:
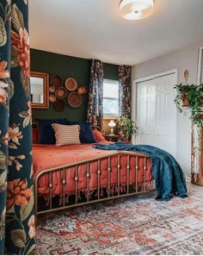
[[[177,94],[175,97],[175,104],[177,109],[181,112],[181,107],[188,107],[189,106],[189,93],[191,91],[196,90],[196,85],[194,84],[175,84],[174,89],[176,89]]]

